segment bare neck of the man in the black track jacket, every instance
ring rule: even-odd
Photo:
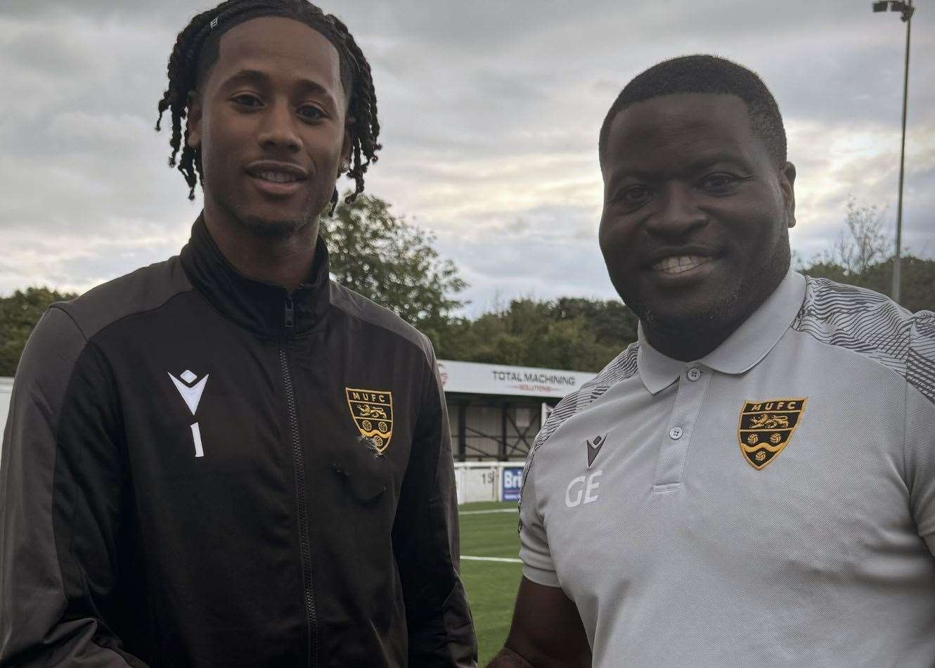
[[[237,271],[257,281],[282,285],[293,292],[308,280],[315,261],[318,217],[305,225],[276,234],[260,233],[231,216],[224,215],[205,201],[205,226],[224,258]],[[265,232],[269,232],[266,228]]]

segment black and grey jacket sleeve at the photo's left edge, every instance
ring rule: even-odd
[[[54,307],[22,354],[0,460],[0,666],[145,665],[104,621],[122,476],[99,362]]]

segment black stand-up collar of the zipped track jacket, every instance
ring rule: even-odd
[[[192,238],[181,249],[181,265],[195,289],[211,306],[240,327],[266,339],[302,334],[324,318],[330,302],[328,250],[319,237],[309,283],[290,295],[282,285],[249,278],[234,268],[211,239],[204,213],[192,226]],[[292,299],[293,326],[286,327],[287,300]]]

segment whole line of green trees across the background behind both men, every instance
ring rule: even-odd
[[[891,246],[880,231],[883,213],[848,202],[847,233],[826,254],[798,269],[889,294]],[[435,239],[390,212],[379,197],[360,196],[338,208],[323,229],[331,271],[339,283],[397,312],[432,340],[443,359],[546,369],[597,371],[637,337],[637,318],[618,300],[563,297],[512,299],[475,318],[454,315],[467,284]],[[54,301],[78,297],[27,287],[0,298],[0,376],[12,376],[36,322]],[[935,261],[904,256],[900,303],[935,309]]]

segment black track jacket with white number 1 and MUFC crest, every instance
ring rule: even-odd
[[[0,466],[0,664],[470,666],[431,344],[180,256],[53,305]]]

